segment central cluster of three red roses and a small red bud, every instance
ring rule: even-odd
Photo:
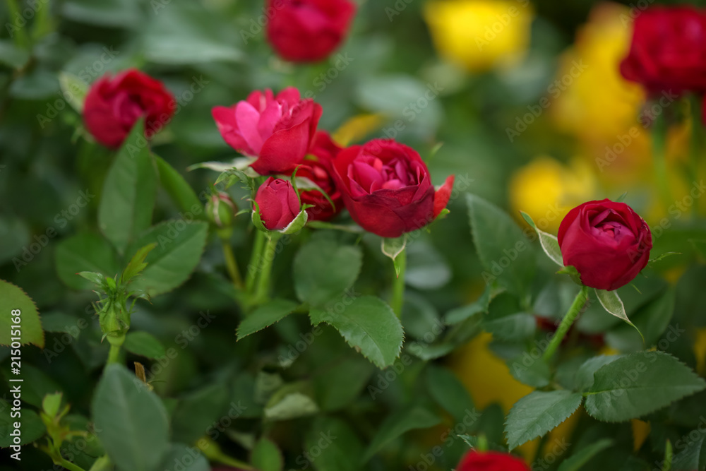
[[[321,105],[301,100],[295,88],[277,95],[255,91],[232,107],[213,109],[226,143],[253,157],[251,169],[264,176],[296,174],[306,182],[297,195],[289,181],[265,181],[255,198],[265,228],[287,227],[300,213],[300,203],[309,206],[313,220],[330,220],[345,205],[367,231],[400,237],[429,224],[445,208],[453,176],[435,190],[414,149],[391,139],[343,149],[317,131],[320,117]]]

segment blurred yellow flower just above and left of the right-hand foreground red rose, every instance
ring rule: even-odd
[[[561,220],[575,206],[594,199],[595,177],[590,164],[574,160],[565,166],[539,157],[515,172],[510,179],[510,206],[532,216],[539,229],[556,234]]]

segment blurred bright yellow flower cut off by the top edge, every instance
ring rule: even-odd
[[[522,59],[533,16],[529,0],[431,0],[424,5],[438,52],[472,72]]]

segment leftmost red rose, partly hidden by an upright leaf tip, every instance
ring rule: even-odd
[[[152,136],[172,119],[177,102],[164,84],[134,68],[90,86],[83,103],[83,122],[96,141],[118,148],[140,117]]]

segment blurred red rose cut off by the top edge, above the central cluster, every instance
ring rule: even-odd
[[[269,0],[267,37],[287,61],[321,61],[345,39],[355,10],[349,0]]]

